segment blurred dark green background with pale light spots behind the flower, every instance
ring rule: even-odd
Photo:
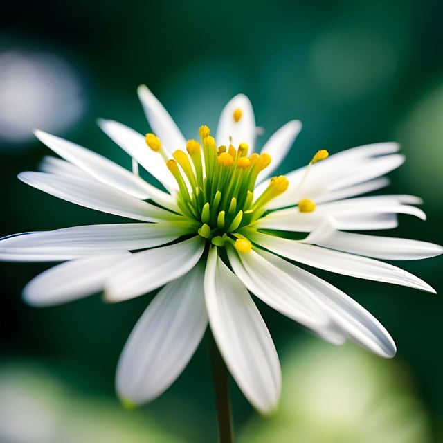
[[[387,192],[423,197],[428,221],[400,216],[399,229],[383,234],[441,244],[442,18],[443,3],[431,0],[4,4],[0,235],[116,221],[16,176],[49,154],[31,134],[36,127],[129,168],[95,122],[113,118],[146,132],[136,98],[145,83],[188,138],[203,123],[215,129],[221,107],[239,92],[265,128],[261,141],[302,120],[289,169],[320,148],[399,141],[407,160]],[[443,291],[441,257],[401,266]],[[0,264],[0,442],[216,441],[204,343],[164,395],[124,410],[114,395],[116,361],[152,295],[27,307],[21,289],[46,267]],[[259,304],[281,356],[282,404],[275,416],[257,417],[232,383],[239,441],[442,441],[441,295],[318,275],[377,316],[398,354],[383,361],[354,345],[323,344]]]

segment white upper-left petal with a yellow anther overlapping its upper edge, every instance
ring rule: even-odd
[[[98,125],[109,138],[140,163],[152,177],[155,177],[167,190],[178,188],[177,182],[159,152],[146,145],[145,137],[122,123],[114,120],[98,120]]]

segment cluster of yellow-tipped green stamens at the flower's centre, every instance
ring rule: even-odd
[[[235,109],[233,119],[238,122],[242,111]],[[254,196],[257,177],[271,163],[269,154],[253,153],[248,156],[248,145],[237,147],[219,145],[204,125],[199,128],[201,142],[190,140],[186,152],[176,150],[173,159],[154,134],[146,134],[146,143],[159,152],[177,181],[177,205],[198,233],[215,246],[230,242],[239,252],[251,251],[251,242],[243,235],[242,228],[262,217],[272,199],[287,190],[289,181],[283,175],[273,177],[259,196]],[[326,150],[318,151],[308,165],[328,156]],[[300,185],[304,181],[302,178]],[[299,186],[300,186],[299,185]],[[256,198],[255,198],[256,197]],[[300,212],[309,213],[316,205],[309,199],[298,202]]]

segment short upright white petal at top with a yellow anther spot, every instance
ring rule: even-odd
[[[238,122],[233,117],[235,109],[242,111],[242,118]],[[240,143],[247,143],[249,146],[248,154],[252,154],[255,147],[256,133],[251,102],[243,94],[238,94],[221,111],[217,136],[215,137],[217,145],[229,146],[232,143],[237,148]]]

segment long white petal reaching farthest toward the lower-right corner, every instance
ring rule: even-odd
[[[266,251],[260,251],[260,255],[273,263],[278,269],[290,275],[293,280],[305,286],[308,291],[316,294],[316,299],[331,316],[338,328],[335,332],[330,327],[327,329],[318,328],[314,331],[316,334],[331,343],[341,344],[343,343],[339,333],[341,330],[352,341],[375,354],[383,357],[395,355],[395,343],[383,325],[352,298],[332,286],[332,284],[276,255]]]

